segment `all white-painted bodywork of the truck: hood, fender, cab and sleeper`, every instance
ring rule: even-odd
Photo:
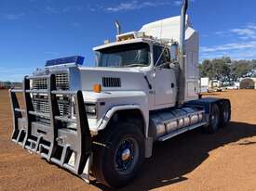
[[[160,28],[159,28],[160,27]],[[159,33],[160,32],[160,33]],[[143,36],[144,33],[149,36]],[[139,33],[129,32],[122,35],[134,35],[134,39],[109,43],[94,47],[94,51],[116,45],[145,43],[150,46],[150,63],[147,67],[133,68],[103,68],[103,67],[74,67],[70,68],[71,89],[81,89],[86,103],[96,103],[97,116],[89,118],[89,128],[97,133],[104,129],[116,111],[139,109],[144,119],[145,136],[148,136],[149,112],[161,108],[171,108],[177,101],[177,67],[159,68],[154,66],[154,45],[162,45],[169,49],[170,40],[179,42],[180,17],[159,20],[144,25]],[[197,98],[198,85],[198,34],[192,28],[190,20],[186,19],[185,32],[186,58],[185,100]],[[138,38],[140,37],[140,38]],[[162,40],[162,41],[160,41]],[[166,41],[168,40],[168,41]],[[58,69],[59,70],[59,69]],[[149,88],[149,84],[152,86]],[[121,87],[103,87],[101,93],[94,93],[93,85],[102,83],[102,77],[120,78]],[[173,83],[173,84],[172,84]],[[104,104],[101,104],[104,103]]]

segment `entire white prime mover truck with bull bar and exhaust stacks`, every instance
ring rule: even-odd
[[[12,141],[87,183],[127,185],[153,144],[195,128],[213,133],[230,121],[228,99],[199,96],[198,33],[186,15],[121,33],[83,57],[47,61],[9,91]],[[24,99],[20,108],[17,94]],[[171,171],[168,170],[168,171]]]

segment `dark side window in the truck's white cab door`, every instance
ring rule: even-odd
[[[159,45],[154,45],[153,50],[154,50],[154,63],[156,64],[157,60],[159,59],[157,62],[157,66],[170,61],[168,48],[164,48],[163,46],[159,46]]]

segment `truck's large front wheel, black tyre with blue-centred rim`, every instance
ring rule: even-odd
[[[101,134],[93,150],[92,172],[104,185],[120,187],[137,174],[144,157],[144,137],[139,127],[120,122]]]

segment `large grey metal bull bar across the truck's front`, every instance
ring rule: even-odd
[[[47,89],[31,89],[33,79],[47,79]],[[22,93],[24,108],[16,93]],[[47,95],[48,113],[34,110],[32,95]],[[75,119],[60,114],[58,96],[68,96],[74,101]],[[39,154],[89,183],[91,162],[91,135],[82,92],[57,91],[55,75],[25,77],[22,90],[9,90],[13,114],[11,140],[20,146]],[[48,123],[36,121],[36,117],[47,119]],[[73,123],[75,128],[68,128]]]

